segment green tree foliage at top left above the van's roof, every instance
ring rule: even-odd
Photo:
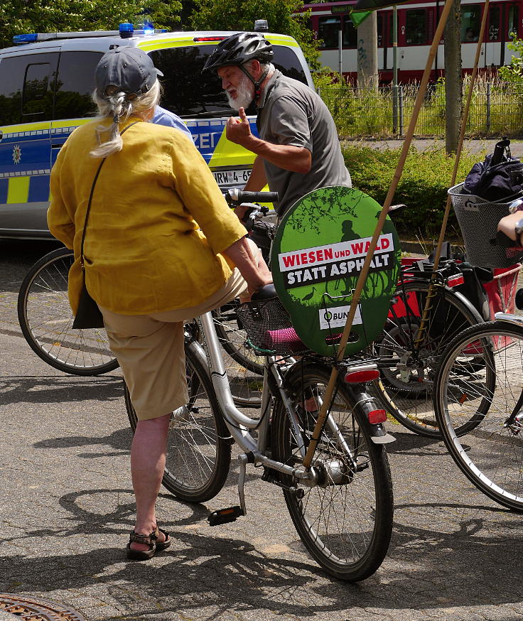
[[[179,21],[180,0],[1,0],[0,48],[14,35],[32,32],[117,30],[122,21],[137,23],[144,12],[156,28]]]

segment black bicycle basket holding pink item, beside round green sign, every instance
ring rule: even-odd
[[[245,302],[236,308],[236,314],[257,352],[290,356],[310,351],[296,334],[289,313],[278,298]]]

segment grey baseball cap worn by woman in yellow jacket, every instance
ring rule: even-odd
[[[143,95],[163,73],[151,57],[139,48],[116,48],[105,53],[95,69],[99,97],[107,97],[107,87],[115,86],[126,95]]]

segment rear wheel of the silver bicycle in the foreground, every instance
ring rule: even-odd
[[[316,418],[305,413],[301,404],[311,394],[319,403],[330,368],[314,363],[296,367],[286,375],[286,385],[308,443]],[[276,400],[271,434],[275,458],[299,466],[298,442],[280,399]],[[285,485],[303,490],[301,498],[284,490],[291,519],[303,544],[325,571],[340,580],[363,580],[377,570],[387,554],[394,510],[392,482],[383,445],[370,439],[367,417],[341,381],[314,459],[319,473],[314,487],[280,474]]]

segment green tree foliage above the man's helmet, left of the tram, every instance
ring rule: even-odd
[[[269,31],[290,35],[301,46],[311,69],[319,68],[319,48],[308,26],[310,11],[301,0],[195,0],[190,21],[195,30],[252,31],[254,21],[266,19]]]

